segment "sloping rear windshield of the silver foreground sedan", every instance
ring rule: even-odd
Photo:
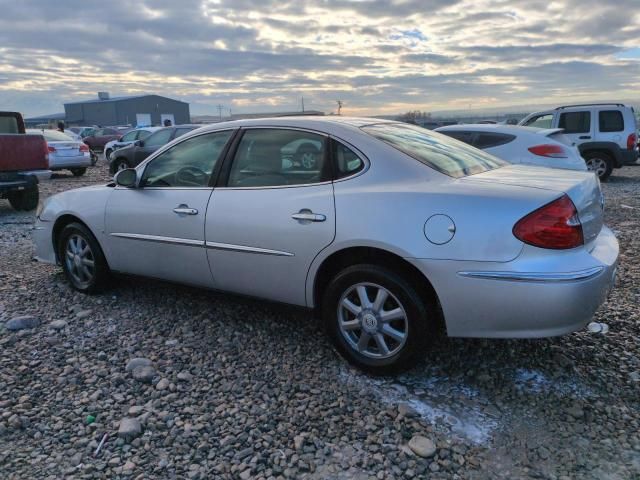
[[[414,125],[379,123],[364,126],[362,130],[454,178],[486,172],[508,164],[462,142]]]

